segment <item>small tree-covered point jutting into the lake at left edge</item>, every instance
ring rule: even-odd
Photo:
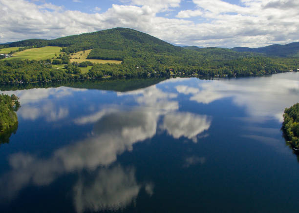
[[[15,95],[0,95],[0,134],[6,132],[18,122],[15,111],[20,107]]]

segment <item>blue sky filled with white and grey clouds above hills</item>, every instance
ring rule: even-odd
[[[299,0],[0,0],[0,43],[128,27],[175,45],[299,41]]]

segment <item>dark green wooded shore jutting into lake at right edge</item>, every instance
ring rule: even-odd
[[[283,115],[283,132],[295,149],[299,149],[299,103],[286,108]]]

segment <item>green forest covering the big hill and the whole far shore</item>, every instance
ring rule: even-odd
[[[46,61],[0,60],[0,83],[86,78],[206,76],[239,77],[286,72],[299,68],[298,58],[266,57],[225,48],[177,47],[128,28],[114,28],[53,40],[29,39],[3,47],[61,46],[62,54]],[[92,49],[87,59],[121,60],[121,64],[92,64],[85,73],[69,56]],[[65,64],[56,68],[55,64]]]

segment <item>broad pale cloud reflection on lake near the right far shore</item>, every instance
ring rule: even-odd
[[[177,92],[190,100],[209,104],[232,97],[237,106],[245,106],[248,120],[277,119],[282,122],[286,107],[298,102],[299,73],[283,73],[268,77],[203,81],[197,87],[178,85]]]

